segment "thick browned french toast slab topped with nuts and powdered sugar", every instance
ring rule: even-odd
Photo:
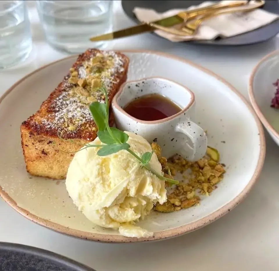
[[[89,105],[93,101],[105,102],[100,82],[107,89],[110,106],[127,79],[128,64],[127,56],[114,51],[88,49],[78,56],[40,109],[20,126],[27,172],[65,179],[74,153],[97,137]]]

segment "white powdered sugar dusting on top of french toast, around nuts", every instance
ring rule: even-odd
[[[101,71],[101,78],[109,94],[110,89],[119,82],[120,79],[117,78],[117,74],[124,71],[125,63],[123,57],[114,51],[102,51],[101,54],[103,55],[102,58],[105,59],[104,61],[107,61],[106,59],[110,61],[110,65],[105,69],[105,72]],[[87,80],[88,78],[92,78],[92,76],[94,78],[94,72],[91,74],[88,73],[88,67],[92,65],[95,57],[98,57],[98,52],[97,54],[95,52],[94,56],[92,55],[90,59],[75,68],[76,72],[78,72],[78,79]],[[42,120],[42,124],[48,129],[64,130],[74,136],[78,127],[82,124],[89,123],[88,128],[94,126],[89,105],[94,99],[103,103],[105,102],[105,97],[104,93],[99,90],[94,90],[91,94],[85,87],[81,88],[77,84],[69,83],[70,76],[71,74],[68,74],[65,77],[62,83],[63,91],[51,104],[50,112],[52,113],[47,119]],[[86,92],[85,95],[83,95],[83,92]]]

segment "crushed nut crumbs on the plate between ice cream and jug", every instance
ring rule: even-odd
[[[157,143],[153,142],[151,147],[162,165],[165,177],[174,179],[177,173],[183,176],[183,181],[174,187],[168,187],[166,183],[167,202],[154,206],[158,212],[169,213],[197,206],[201,201],[197,194],[209,196],[226,172],[225,165],[219,163],[219,152],[214,148],[208,147],[203,158],[189,162],[179,155],[167,160],[161,156],[162,150]]]

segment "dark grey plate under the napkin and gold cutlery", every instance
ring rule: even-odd
[[[156,0],[148,0],[148,1],[140,1],[140,0],[122,0],[122,7],[124,12],[135,22],[139,22],[133,13],[134,7],[141,8],[152,8],[158,12],[164,12],[172,8],[188,8],[192,5],[198,5],[204,1],[186,1],[186,0],[170,0],[170,1],[156,1]],[[264,10],[270,11],[272,13],[279,14],[279,1],[277,0],[267,0],[264,7]],[[279,20],[264,26],[262,28],[256,29],[254,31],[244,33],[241,35],[237,35],[231,38],[212,40],[212,41],[199,41],[191,43],[196,44],[210,44],[210,45],[223,45],[223,46],[236,46],[236,45],[248,45],[255,44],[259,42],[267,41],[279,33]],[[154,34],[155,35],[155,34]]]

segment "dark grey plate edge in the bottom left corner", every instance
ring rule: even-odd
[[[53,252],[0,242],[0,271],[94,271]]]

